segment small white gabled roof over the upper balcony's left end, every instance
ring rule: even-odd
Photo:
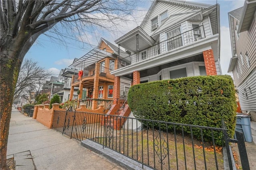
[[[136,27],[132,31],[118,38],[115,43],[121,47],[136,53],[136,35],[139,35],[139,50],[146,49],[154,45],[155,40],[150,37],[141,27]]]

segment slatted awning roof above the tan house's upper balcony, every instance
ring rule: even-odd
[[[75,69],[86,68],[106,57],[111,57],[111,56],[112,56],[111,53],[94,48],[91,51],[89,51],[86,55],[82,56],[80,59],[74,61],[74,63],[70,64],[70,66],[68,67],[75,68]]]

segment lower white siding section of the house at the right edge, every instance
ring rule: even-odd
[[[256,69],[237,87],[241,109],[244,111],[256,111]],[[251,93],[249,91],[251,89]],[[246,89],[247,98],[244,92]]]

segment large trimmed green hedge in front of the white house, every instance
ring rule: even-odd
[[[130,88],[128,104],[137,118],[221,127],[226,122],[228,134],[234,135],[236,101],[233,80],[230,76],[194,76],[173,80],[160,80],[137,84]],[[163,126],[162,129],[166,129]],[[170,129],[172,129],[170,127]],[[190,133],[190,129],[184,127]],[[201,138],[200,130],[193,130]],[[217,135],[217,136],[216,136]],[[222,134],[214,134],[221,145]],[[204,131],[211,141],[210,132]]]

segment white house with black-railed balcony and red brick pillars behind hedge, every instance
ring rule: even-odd
[[[131,55],[111,74],[133,84],[222,74],[219,16],[218,4],[155,0],[141,25],[115,41]]]

